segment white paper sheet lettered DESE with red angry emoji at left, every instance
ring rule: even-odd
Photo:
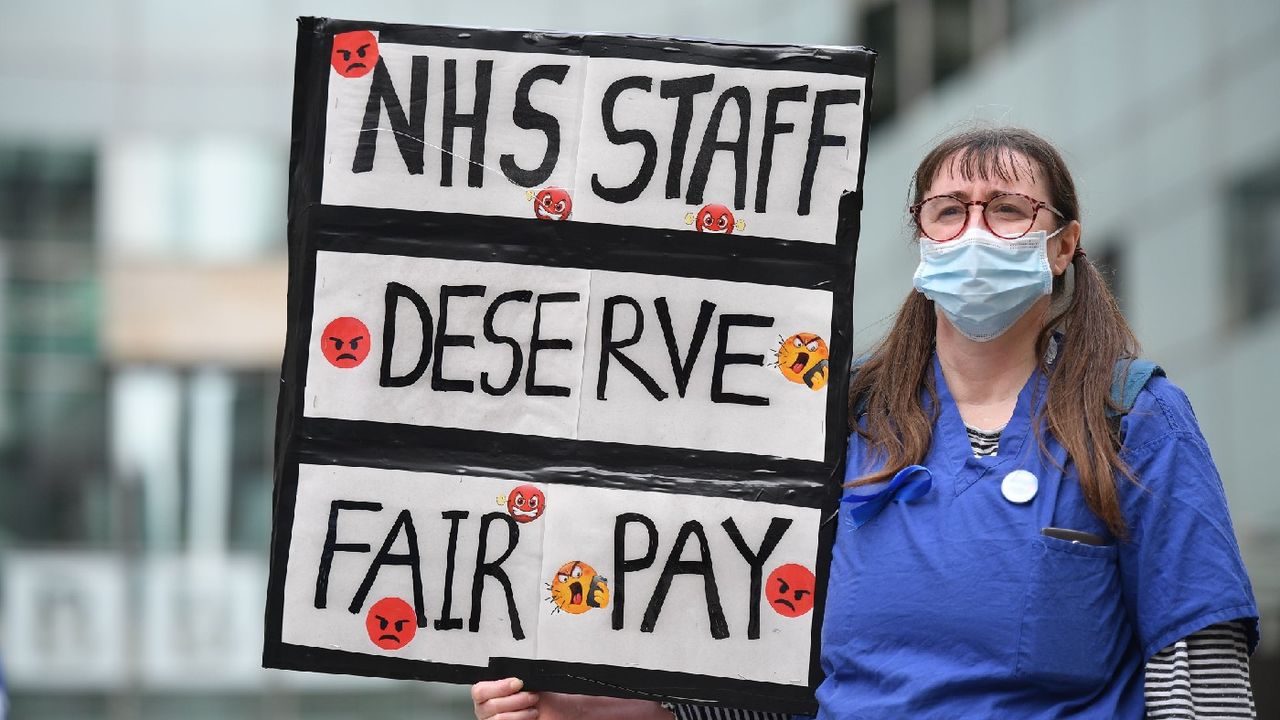
[[[306,414],[573,437],[589,292],[588,270],[320,252]]]

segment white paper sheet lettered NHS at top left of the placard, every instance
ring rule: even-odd
[[[554,168],[539,178],[539,187],[572,187],[585,58],[396,44],[381,44],[378,51],[385,70],[375,68],[362,77],[330,72],[323,193],[326,205],[532,217],[526,187],[512,182],[507,173],[536,170],[550,142],[545,133],[517,124],[517,90],[522,82],[529,85],[518,94],[527,102],[527,108],[518,109],[521,114],[529,117],[529,109],[547,114],[558,135],[559,151],[550,159]],[[415,58],[422,83],[420,97],[412,95]],[[393,102],[402,115],[388,110],[378,94],[372,96],[378,101],[370,129],[376,138],[370,143],[374,155],[357,163],[370,90],[381,72],[392,83]],[[463,115],[463,122],[465,115],[476,113],[477,74],[489,88],[481,94],[484,147],[475,155],[474,128],[460,124],[448,137],[444,131],[445,82],[451,73],[454,85],[448,95],[453,97],[454,117]]]

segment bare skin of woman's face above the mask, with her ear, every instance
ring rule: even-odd
[[[1019,192],[1042,202],[1050,202],[1051,195],[1046,173],[1041,170],[1038,164],[1020,152],[1011,152],[1001,159],[1005,167],[1000,174],[1004,174],[1005,178],[997,177],[997,173],[993,172],[986,173],[988,176],[986,178],[978,176],[965,177],[960,172],[960,156],[952,156],[943,161],[938,174],[929,183],[929,187],[924,190],[920,199],[933,197],[934,195],[955,195],[960,200],[973,201],[991,200],[1002,192]],[[1030,232],[1044,231],[1051,233],[1061,223],[1062,220],[1051,210],[1041,209],[1036,213],[1036,222],[1032,224]],[[965,231],[973,227],[986,228],[980,205],[969,206]],[[1055,275],[1062,274],[1071,263],[1079,237],[1080,224],[1071,220],[1062,232],[1050,238],[1048,260]]]

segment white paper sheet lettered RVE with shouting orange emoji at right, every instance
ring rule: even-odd
[[[822,460],[829,292],[594,272],[588,328],[579,438]]]

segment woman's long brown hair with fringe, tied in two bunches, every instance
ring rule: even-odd
[[[1030,160],[1033,167],[1028,168],[1023,159]],[[1025,129],[982,128],[943,140],[916,168],[911,202],[922,200],[943,165],[966,179],[1018,179],[1019,168],[1043,172],[1050,205],[1061,210],[1064,223],[1080,219],[1075,182],[1062,156]],[[1075,462],[1089,509],[1123,538],[1126,533],[1115,473],[1133,479],[1133,471],[1120,457],[1117,428],[1107,420],[1107,410],[1120,410],[1111,400],[1112,370],[1117,360],[1138,356],[1138,341],[1089,259],[1076,252],[1071,265],[1075,282],[1070,302],[1048,319],[1036,340],[1041,369],[1050,380],[1047,401],[1033,427],[1048,423],[1050,432]],[[1053,281],[1055,300],[1064,292],[1062,275],[1059,275]],[[1053,309],[1060,305],[1055,302]],[[872,454],[884,460],[881,470],[851,486],[888,479],[906,465],[920,462],[928,452],[937,419],[937,389],[929,372],[936,323],[933,301],[911,291],[892,329],[850,382],[850,429],[867,438]],[[1057,328],[1065,331],[1066,341],[1059,347],[1050,372],[1044,359]],[[932,400],[932,416],[920,404],[922,388]],[[859,407],[867,414],[865,430],[859,428],[855,416]]]

